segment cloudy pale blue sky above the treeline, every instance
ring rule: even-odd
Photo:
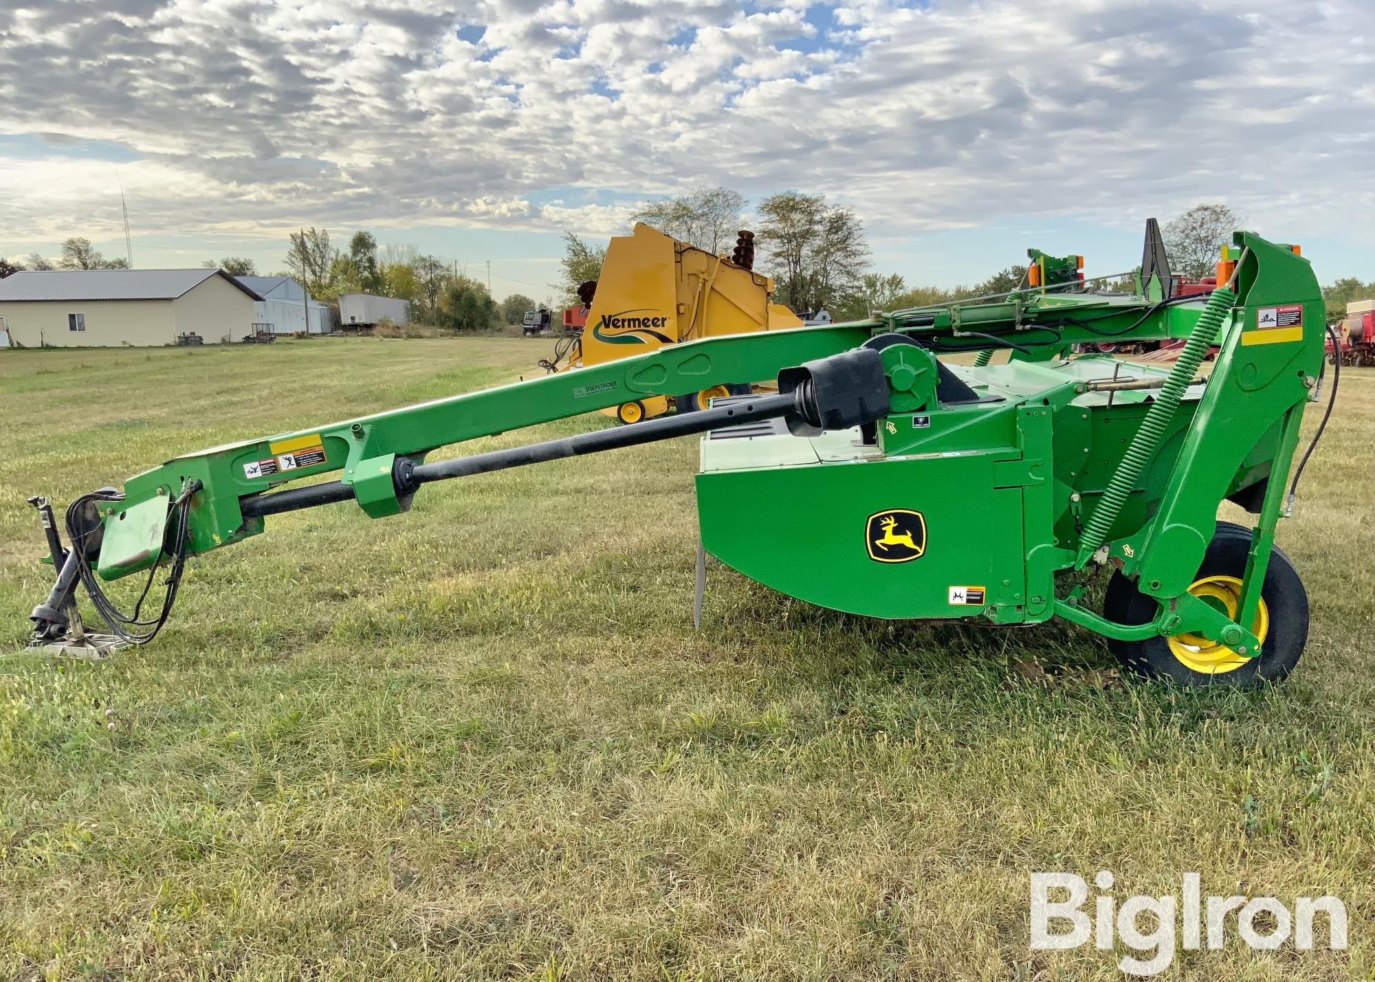
[[[1115,272],[1200,201],[1375,278],[1370,0],[0,0],[0,256],[122,254],[118,179],[140,267],[314,224],[542,296],[562,230],[726,184],[914,283]]]

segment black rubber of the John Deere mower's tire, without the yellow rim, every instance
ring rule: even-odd
[[[1229,521],[1217,523],[1213,541],[1203,553],[1194,579],[1204,576],[1238,576],[1246,572],[1246,556],[1251,546],[1251,530]],[[1228,685],[1251,688],[1262,682],[1280,682],[1304,653],[1308,644],[1308,591],[1298,571],[1280,549],[1270,553],[1261,585],[1261,600],[1269,613],[1269,633],[1261,645],[1260,657],[1240,668],[1220,674],[1195,671],[1174,657],[1166,638],[1147,641],[1108,641],[1108,648],[1129,671],[1144,678],[1169,678],[1180,685],[1198,688]],[[1121,572],[1114,572],[1103,598],[1103,616],[1122,624],[1148,623],[1156,611],[1154,598],[1136,589],[1136,583]]]

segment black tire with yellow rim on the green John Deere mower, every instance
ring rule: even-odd
[[[1220,521],[1189,593],[1235,616],[1250,547],[1251,530]],[[1108,620],[1144,624],[1155,616],[1155,600],[1140,593],[1136,583],[1121,572],[1112,574],[1103,601],[1103,615]],[[1290,674],[1308,644],[1308,593],[1294,564],[1279,549],[1270,553],[1251,633],[1261,641],[1258,657],[1246,657],[1226,645],[1194,634],[1108,641],[1108,646],[1125,667],[1145,678],[1170,678],[1189,686],[1246,688],[1279,682]]]

